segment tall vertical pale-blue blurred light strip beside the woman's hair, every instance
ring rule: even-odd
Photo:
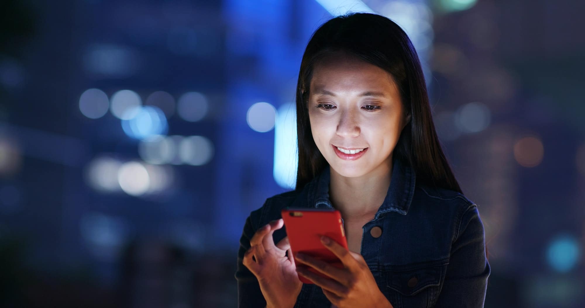
[[[286,103],[278,108],[274,127],[274,180],[280,187],[294,189],[297,184],[297,108]]]

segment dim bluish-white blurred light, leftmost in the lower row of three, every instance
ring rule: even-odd
[[[97,157],[88,165],[86,180],[97,191],[118,191],[121,189],[118,183],[118,170],[121,166],[122,163],[117,159]]]

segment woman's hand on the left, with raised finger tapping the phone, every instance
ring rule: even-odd
[[[269,308],[294,307],[302,287],[288,236],[274,245],[272,234],[283,226],[284,220],[277,219],[258,229],[243,258],[243,264],[258,279]]]

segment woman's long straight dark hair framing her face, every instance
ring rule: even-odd
[[[436,135],[417,51],[398,24],[371,13],[335,17],[322,24],[307,44],[296,94],[298,170],[295,190],[301,190],[328,166],[312,137],[307,103],[315,62],[339,51],[353,54],[393,76],[405,113],[411,114],[394,149],[395,158],[413,167],[417,181],[463,193]]]

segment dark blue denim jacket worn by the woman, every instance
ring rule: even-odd
[[[264,307],[256,276],[242,264],[259,227],[280,210],[333,208],[329,167],[301,191],[266,199],[246,219],[235,278],[238,307]],[[370,234],[374,227],[381,228]],[[374,219],[362,227],[362,254],[380,291],[394,308],[483,307],[490,264],[477,205],[459,192],[416,183],[414,170],[394,159],[390,186]],[[374,235],[373,235],[374,234]],[[274,243],[286,236],[276,230]],[[377,236],[377,237],[376,237]],[[319,286],[303,283],[295,307],[331,307]]]

